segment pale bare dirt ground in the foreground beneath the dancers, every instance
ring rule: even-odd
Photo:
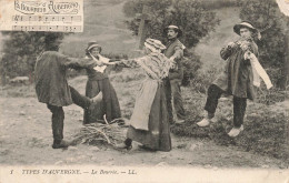
[[[0,163],[9,165],[177,165],[218,167],[279,167],[282,162],[236,148],[219,146],[207,140],[172,136],[172,151],[148,152],[134,144],[129,152],[109,146],[78,145],[68,150],[51,148],[49,110],[36,98],[0,98]],[[70,139],[80,128],[82,111],[64,108],[64,136]]]

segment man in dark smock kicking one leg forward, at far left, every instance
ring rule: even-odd
[[[48,40],[49,41],[49,40]],[[102,95],[93,99],[81,95],[68,85],[66,73],[69,68],[93,68],[97,62],[88,59],[73,59],[58,52],[60,40],[56,40],[44,48],[36,63],[36,92],[39,102],[46,103],[52,113],[53,149],[67,148],[70,144],[63,140],[64,112],[62,106],[76,103],[88,109],[99,102]]]

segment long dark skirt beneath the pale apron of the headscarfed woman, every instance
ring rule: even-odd
[[[170,126],[163,85],[159,84],[149,114],[149,131],[129,126],[127,138],[147,148],[158,151],[170,151]]]

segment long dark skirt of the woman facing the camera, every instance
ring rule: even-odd
[[[102,91],[102,102],[93,104],[89,110],[84,110],[83,124],[93,123],[103,120],[103,115],[108,121],[121,116],[119,100],[116,90],[111,85],[108,78],[102,80],[89,79],[86,88],[86,96],[93,98]]]

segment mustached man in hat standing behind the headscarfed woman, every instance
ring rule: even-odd
[[[163,54],[175,63],[175,67],[169,72],[169,77],[163,80],[169,120],[170,123],[173,123],[173,120],[176,123],[182,123],[185,122],[185,109],[182,104],[180,85],[183,78],[181,60],[183,57],[185,45],[178,39],[182,35],[182,32],[177,26],[169,26],[163,30],[163,32],[168,38],[168,43],[166,45],[167,49]]]

